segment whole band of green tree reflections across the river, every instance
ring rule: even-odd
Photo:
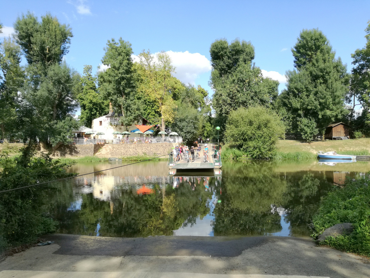
[[[66,183],[60,186],[63,190],[51,196],[55,200],[51,202],[51,214],[61,221],[60,232],[64,233],[95,235],[100,224],[101,236],[172,235],[174,230],[192,226],[198,217],[210,213],[214,193],[221,200],[212,212],[214,235],[279,232],[282,226],[278,210],[284,211],[285,221],[290,222],[290,235],[309,235],[308,225],[320,198],[332,186],[332,171],[283,172],[293,167],[292,163],[256,160],[224,162],[222,195],[215,178],[195,176],[173,177],[173,184],[162,187],[148,186],[154,191],[151,194],[138,195],[137,186],[115,186],[108,201],[94,198],[92,187],[84,183]],[[78,208],[71,209],[72,203]]]

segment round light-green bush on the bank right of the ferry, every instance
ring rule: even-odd
[[[270,158],[276,142],[285,134],[285,126],[272,110],[256,106],[232,111],[226,121],[226,141],[253,159]]]

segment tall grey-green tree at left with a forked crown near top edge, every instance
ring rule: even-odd
[[[41,150],[53,151],[68,142],[77,128],[72,113],[77,107],[77,73],[62,63],[68,53],[71,29],[50,14],[38,21],[22,14],[14,24],[15,39],[27,60],[27,82],[22,90],[18,128],[23,139],[40,140]]]

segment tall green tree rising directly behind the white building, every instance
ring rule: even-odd
[[[135,76],[132,69],[131,43],[120,38],[108,40],[101,62],[108,68],[98,75],[99,90],[115,111],[121,112],[121,123],[130,126],[141,116],[141,103],[137,99]]]

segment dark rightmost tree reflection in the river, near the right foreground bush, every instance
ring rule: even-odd
[[[285,221],[290,222],[290,235],[309,235],[308,225],[319,208],[320,198],[332,184],[322,174],[308,172],[290,173],[286,176],[287,191],[284,194],[283,208]]]

